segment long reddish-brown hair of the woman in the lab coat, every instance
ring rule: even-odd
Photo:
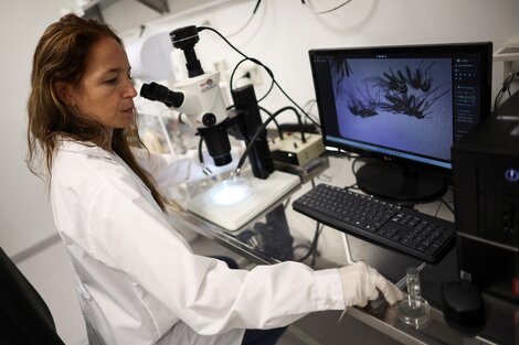
[[[104,127],[68,106],[59,95],[60,85],[77,85],[86,69],[86,61],[95,43],[104,37],[121,40],[106,24],[67,14],[51,24],[40,39],[34,52],[31,73],[31,94],[28,100],[29,170],[49,184],[52,161],[60,138],[95,144],[106,140]],[[155,201],[165,209],[165,200],[157,191],[153,179],[137,163],[131,145],[144,147],[137,126],[114,129],[112,148],[142,180]]]

